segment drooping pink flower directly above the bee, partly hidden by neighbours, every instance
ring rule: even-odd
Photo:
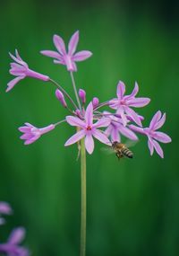
[[[132,140],[138,139],[138,137],[130,128],[127,128],[127,126],[124,127],[123,120],[121,118],[117,118],[113,114],[110,115],[110,112],[108,111],[104,111],[104,116],[105,115],[107,115],[108,119],[110,120],[110,124],[107,127],[105,134],[107,137],[111,137],[113,142],[121,142],[121,135]]]

